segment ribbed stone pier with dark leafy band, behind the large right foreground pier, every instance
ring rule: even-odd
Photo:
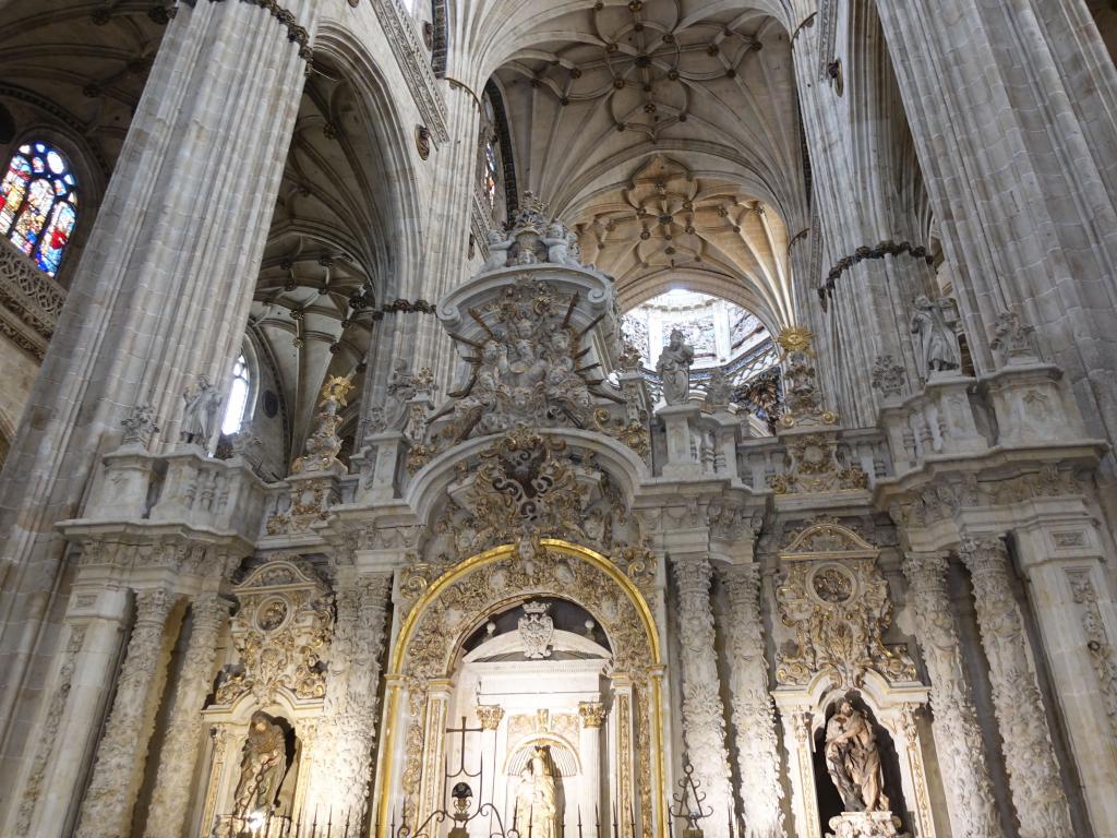
[[[873,425],[869,371],[877,356],[891,356],[918,389],[908,320],[913,298],[930,294],[934,272],[922,251],[913,254],[925,244],[917,202],[896,187],[918,183],[919,171],[905,153],[911,137],[876,3],[815,6],[818,15],[792,38],[813,181],[810,236],[821,237],[800,265],[828,296],[820,304],[811,288],[796,317],[815,331],[818,346],[832,349],[818,359],[827,396],[851,423]],[[840,86],[828,76],[831,63],[841,68]],[[836,332],[841,340],[831,340]]]

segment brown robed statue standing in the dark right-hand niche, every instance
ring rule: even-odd
[[[827,770],[846,811],[888,811],[880,751],[868,720],[849,702],[827,722]]]

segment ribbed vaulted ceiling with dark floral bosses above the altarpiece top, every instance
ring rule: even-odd
[[[495,76],[517,179],[577,226],[622,301],[675,283],[792,322],[806,197],[785,29],[739,3],[632,0],[516,42]]]

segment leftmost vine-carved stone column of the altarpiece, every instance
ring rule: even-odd
[[[151,714],[157,707],[151,693],[166,666],[163,635],[174,601],[162,588],[136,592],[135,625],[97,745],[93,779],[82,801],[77,838],[126,838],[131,832],[132,809],[147,759]]]

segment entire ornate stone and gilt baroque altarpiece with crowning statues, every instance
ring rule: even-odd
[[[345,379],[279,482],[128,419],[59,525],[79,570],[20,835],[80,771],[59,744],[102,712],[113,608],[83,837],[1076,834],[1117,724],[1101,445],[1019,323],[980,381],[909,394],[882,360],[876,434],[786,330],[757,436],[680,340],[651,391],[531,196],[435,314],[454,388],[394,364],[352,467]],[[1102,735],[1054,724],[1052,680]]]

